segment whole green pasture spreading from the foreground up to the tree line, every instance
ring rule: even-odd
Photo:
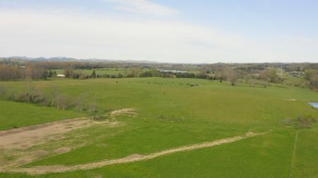
[[[25,86],[24,82],[1,83],[16,89]],[[0,177],[318,177],[318,124],[307,129],[284,125],[286,118],[318,118],[318,110],[308,104],[318,101],[315,91],[155,77],[60,79],[33,84],[43,90],[59,89],[74,98],[86,94],[96,102],[98,115],[127,108],[134,114],[113,115],[28,148],[0,148],[0,168],[9,163],[23,168],[76,166],[138,157],[247,132],[266,134],[88,170],[35,175],[2,171]],[[89,115],[75,108],[57,110],[10,101],[0,101],[0,106],[0,129]],[[26,155],[34,156],[16,161]]]

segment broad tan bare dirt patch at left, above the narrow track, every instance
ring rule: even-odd
[[[19,167],[35,160],[71,151],[117,132],[102,132],[92,139],[90,127],[121,127],[122,122],[95,121],[90,117],[48,122],[41,125],[0,131],[0,169]],[[83,132],[87,133],[83,133]],[[78,141],[81,144],[78,144]],[[6,160],[5,158],[10,158]]]

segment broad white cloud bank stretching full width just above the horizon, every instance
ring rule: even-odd
[[[179,63],[317,62],[318,58],[315,39],[251,39],[176,20],[119,20],[49,11],[0,11],[0,39],[0,56]]]

